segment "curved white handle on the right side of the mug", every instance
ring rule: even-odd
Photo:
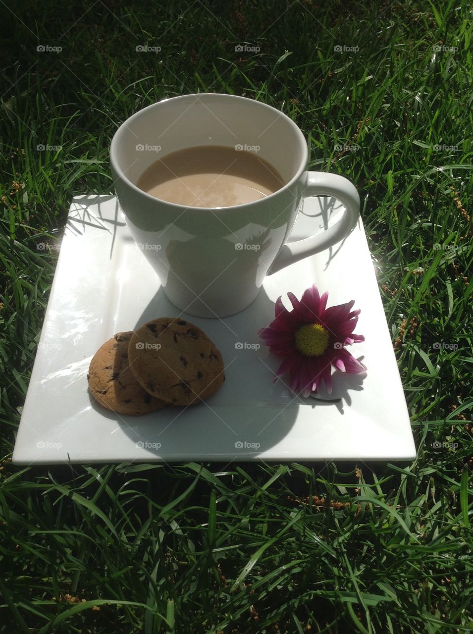
[[[302,193],[304,198],[310,196],[330,196],[337,198],[345,207],[345,212],[340,220],[326,231],[313,236],[297,240],[290,244],[284,244],[275,261],[269,267],[267,275],[276,273],[280,269],[294,264],[304,257],[313,256],[315,253],[332,247],[343,240],[358,222],[360,216],[360,196],[351,181],[338,174],[327,172],[308,172],[306,189]]]

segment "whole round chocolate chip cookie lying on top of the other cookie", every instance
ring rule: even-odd
[[[138,328],[128,346],[130,367],[146,392],[172,405],[192,405],[224,382],[223,359],[200,328],[160,318]]]

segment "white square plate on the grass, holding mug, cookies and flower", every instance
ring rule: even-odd
[[[334,206],[335,204],[335,206]],[[332,224],[342,207],[309,198],[292,239]],[[273,384],[280,359],[257,344],[287,292],[300,298],[313,283],[328,306],[355,300],[350,351],[365,375],[335,372],[333,392],[299,398]],[[144,417],[116,415],[93,403],[87,370],[116,332],[157,317],[178,316],[133,242],[117,199],[75,197],[62,241],[13,462],[231,460],[411,460],[416,451],[373,262],[360,222],[344,242],[269,276],[256,301],[218,319],[186,316],[223,354],[226,380],[205,403],[167,407]],[[240,345],[238,345],[240,344]],[[283,377],[285,379],[285,377]],[[333,402],[332,399],[338,399]]]

